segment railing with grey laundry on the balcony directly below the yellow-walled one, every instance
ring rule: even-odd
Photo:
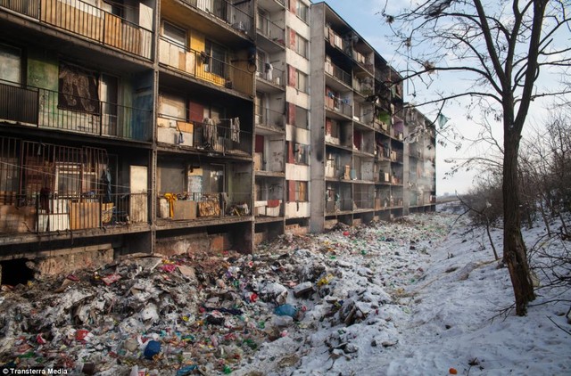
[[[157,119],[160,143],[176,144],[198,151],[219,151],[252,155],[252,132],[236,127],[228,119],[217,124],[186,121],[159,114]]]

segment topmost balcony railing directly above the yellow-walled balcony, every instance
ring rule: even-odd
[[[250,2],[240,2],[244,9],[225,0],[183,0],[183,2],[214,16],[215,20],[221,20],[253,38],[253,18],[245,11]]]

